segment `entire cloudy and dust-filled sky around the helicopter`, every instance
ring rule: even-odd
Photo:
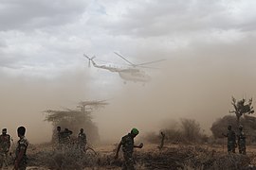
[[[14,139],[24,125],[31,143],[49,141],[43,110],[90,99],[110,99],[93,115],[102,140],[180,117],[210,131],[231,95],[256,94],[254,0],[3,0],[0,23],[0,127]],[[167,60],[146,70],[153,80],[143,86],[82,58],[123,64],[113,51]]]

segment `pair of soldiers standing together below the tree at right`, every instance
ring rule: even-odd
[[[232,127],[228,126],[228,132],[227,134],[223,135],[228,138],[228,152],[229,153],[235,153],[235,148],[238,146],[238,150],[240,154],[247,154],[247,146],[246,146],[246,135],[243,131],[243,126],[240,125],[238,127],[238,133],[235,134],[234,130],[232,130]],[[237,139],[237,143],[236,143]]]

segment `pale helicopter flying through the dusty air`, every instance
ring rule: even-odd
[[[140,63],[140,64],[134,64],[133,62],[129,61],[128,59],[125,59],[119,53],[117,53],[117,52],[114,52],[114,53],[117,56],[119,56],[119,58],[124,59],[126,62],[128,62],[129,67],[119,68],[119,67],[115,67],[115,66],[98,65],[94,60],[96,58],[95,56],[90,58],[90,57],[86,56],[85,54],[83,54],[83,57],[85,57],[86,59],[89,60],[88,67],[90,67],[90,64],[92,62],[93,66],[96,67],[96,68],[105,69],[105,70],[108,70],[110,72],[119,73],[119,76],[123,80],[125,80],[124,84],[126,84],[126,81],[143,82],[143,83],[151,81],[151,76],[147,75],[143,70],[139,69],[138,67],[152,68],[152,67],[148,67],[148,66],[144,66],[144,65],[165,60],[165,59],[158,59],[158,60],[151,61],[151,62],[144,62],[144,63]]]

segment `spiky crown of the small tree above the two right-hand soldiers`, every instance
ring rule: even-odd
[[[246,104],[246,99],[243,98],[241,100],[236,100],[232,96],[232,102],[231,104],[234,107],[234,110],[230,110],[229,112],[235,113],[236,115],[236,121],[237,121],[237,126],[240,125],[240,118],[244,114],[252,114],[254,112],[253,107],[251,106],[252,104],[252,98],[250,98]]]

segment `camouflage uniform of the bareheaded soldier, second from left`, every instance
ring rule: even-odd
[[[20,153],[20,151],[22,149],[25,152],[24,152],[24,155],[22,157],[22,160],[20,161],[20,163],[18,165],[19,166],[19,170],[26,170],[26,168],[27,168],[27,155],[26,155],[27,146],[28,146],[27,139],[24,136],[21,137],[21,139],[18,141],[18,144],[17,144],[15,160],[18,158],[18,155],[19,155],[19,153]]]

